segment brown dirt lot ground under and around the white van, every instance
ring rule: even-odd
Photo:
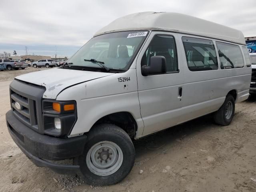
[[[35,69],[24,72],[28,70]],[[4,74],[4,80],[10,80],[17,73]],[[2,72],[0,81],[3,81]],[[114,186],[94,187],[84,184],[80,176],[59,175],[34,166],[14,144],[5,123],[5,113],[10,109],[9,84],[10,81],[0,82],[2,192],[256,191],[256,102],[253,99],[236,104],[230,126],[217,126],[208,115],[135,141],[136,163],[129,176]]]

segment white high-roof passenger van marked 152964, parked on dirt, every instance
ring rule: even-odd
[[[178,13],[118,18],[64,66],[10,84],[10,135],[37,166],[110,185],[134,165],[132,139],[212,114],[228,125],[249,96],[242,32]],[[72,165],[48,160],[72,158]]]

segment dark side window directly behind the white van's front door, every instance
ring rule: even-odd
[[[217,70],[218,60],[211,40],[182,37],[190,71]]]

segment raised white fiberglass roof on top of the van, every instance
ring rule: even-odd
[[[196,34],[245,44],[241,31],[207,20],[172,12],[141,12],[118,18],[94,36],[126,30],[164,30]]]

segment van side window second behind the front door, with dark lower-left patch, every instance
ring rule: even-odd
[[[244,59],[238,45],[216,42],[218,54],[220,57],[220,68],[242,68],[244,67]]]

